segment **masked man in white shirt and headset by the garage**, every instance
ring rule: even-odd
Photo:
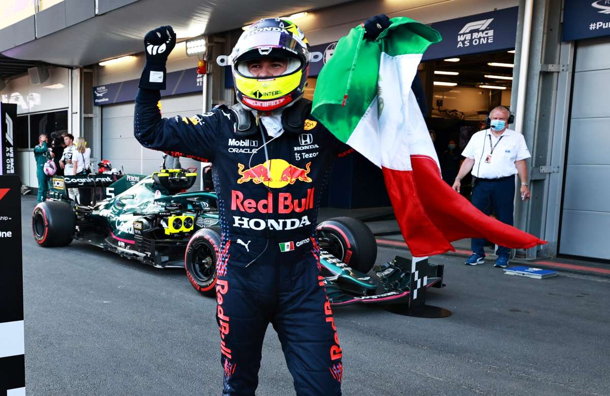
[[[521,180],[521,199],[528,200],[530,193],[525,160],[531,155],[523,135],[506,128],[510,117],[511,111],[504,106],[498,106],[489,113],[491,127],[476,132],[468,141],[462,152],[466,158],[453,189],[459,193],[462,178],[472,169],[473,180],[476,180],[473,182],[472,204],[485,214],[490,214],[493,209],[498,220],[512,225],[515,174],[519,174]],[[484,262],[485,242],[482,238],[472,239],[472,256],[465,264],[476,266]],[[510,251],[508,247],[498,247],[494,267],[508,267]]]

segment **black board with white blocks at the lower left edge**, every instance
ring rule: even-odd
[[[0,396],[24,396],[21,179],[0,175]]]

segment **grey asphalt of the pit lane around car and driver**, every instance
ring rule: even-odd
[[[38,247],[34,203],[23,197],[27,394],[219,395],[215,301],[182,269],[82,242]],[[405,253],[380,248],[378,262]],[[334,309],[344,395],[610,394],[608,280],[534,280],[462,260],[432,258],[445,264],[447,287],[431,289],[428,304],[451,317]],[[294,395],[271,327],[263,355],[257,395]]]

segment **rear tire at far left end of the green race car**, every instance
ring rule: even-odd
[[[40,246],[66,246],[72,242],[76,216],[69,203],[40,202],[32,213],[32,233]]]

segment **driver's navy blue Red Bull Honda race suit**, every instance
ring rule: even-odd
[[[223,395],[254,395],[269,323],[296,394],[340,395],[342,351],[314,232],[332,160],[346,146],[309,115],[305,99],[284,110],[284,133],[273,140],[249,111],[251,126],[240,133],[233,108],[162,119],[159,99],[159,91],[139,91],[137,140],[213,163],[222,230],[216,291]]]

